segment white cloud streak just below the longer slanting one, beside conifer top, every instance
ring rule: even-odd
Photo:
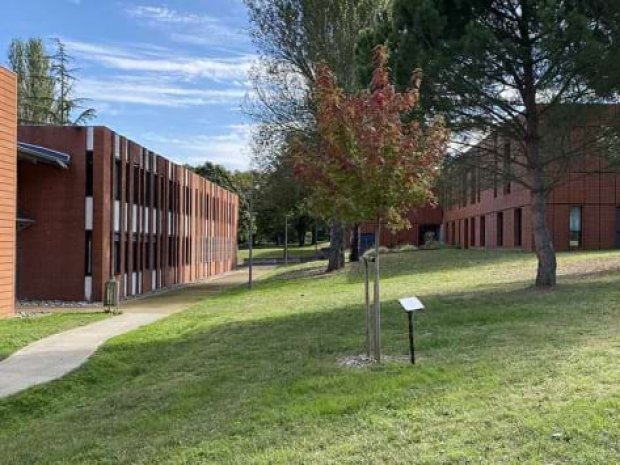
[[[182,87],[166,79],[116,76],[110,79],[82,79],[78,92],[97,102],[117,102],[164,107],[206,105],[238,106],[246,95],[243,88],[202,89]]]

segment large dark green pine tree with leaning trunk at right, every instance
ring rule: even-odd
[[[467,149],[493,134],[514,141],[507,163],[503,144],[477,146],[468,157],[486,173],[531,193],[536,285],[556,283],[556,257],[546,223],[549,193],[575,163],[579,150],[562,140],[581,118],[581,103],[606,102],[618,91],[620,3],[605,0],[395,0],[387,34],[400,84],[416,67],[425,72],[422,110],[449,114]],[[368,40],[367,36],[366,39]],[[590,151],[604,135],[591,134]],[[487,139],[488,142],[488,139]]]

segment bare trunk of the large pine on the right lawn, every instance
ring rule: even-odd
[[[536,287],[550,288],[556,284],[557,261],[551,232],[547,227],[546,195],[543,191],[532,192],[532,224],[534,246],[538,257]]]

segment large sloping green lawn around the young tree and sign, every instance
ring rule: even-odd
[[[106,344],[0,401],[2,464],[612,464],[620,458],[620,253],[383,258],[381,367],[355,270],[303,265]],[[419,365],[406,362],[417,294]]]

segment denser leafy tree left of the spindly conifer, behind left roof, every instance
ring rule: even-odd
[[[19,124],[49,124],[54,115],[54,80],[43,40],[13,39],[9,66],[17,74]]]

